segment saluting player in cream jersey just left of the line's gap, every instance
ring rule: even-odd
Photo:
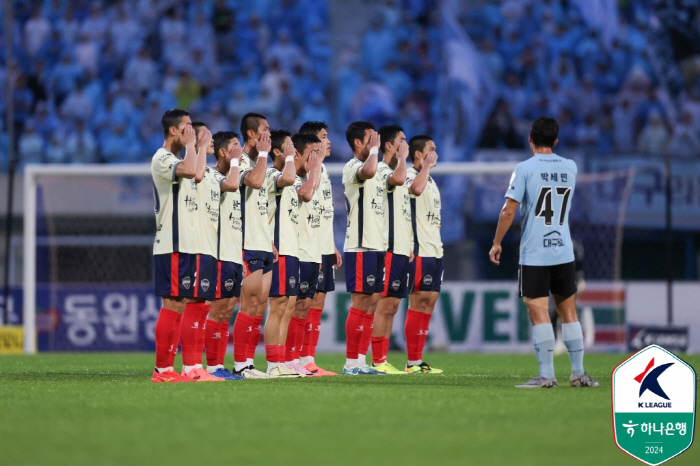
[[[325,152],[323,146],[319,152],[321,161],[331,155],[331,140],[328,138],[328,126],[320,121],[307,121],[301,128],[300,133],[309,133],[318,137],[321,142],[326,141]],[[304,176],[297,171],[297,174]],[[316,194],[318,197],[319,225],[316,228],[316,244],[321,252],[321,269],[318,271],[318,281],[316,293],[309,305],[306,316],[304,340],[300,352],[300,364],[313,374],[337,375],[335,372],[327,371],[316,365],[316,346],[321,334],[321,314],[326,305],[326,294],[335,290],[335,270],[343,263],[342,255],[335,247],[333,236],[333,187],[331,178],[325,165],[321,164],[321,181]]]

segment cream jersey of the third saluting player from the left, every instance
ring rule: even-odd
[[[219,186],[226,179],[227,174],[212,170],[219,182]],[[219,260],[227,262],[243,263],[243,230],[241,222],[241,193],[240,191],[221,191],[221,203],[219,204]]]

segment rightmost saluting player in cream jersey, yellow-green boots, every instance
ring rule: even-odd
[[[440,238],[440,190],[430,177],[437,163],[435,142],[430,136],[414,136],[408,142],[413,166],[406,173],[406,187],[411,203],[413,222],[413,255],[408,311],[404,333],[409,374],[442,374],[441,369],[423,361],[423,348],[428,338],[430,317],[442,286],[442,239]]]

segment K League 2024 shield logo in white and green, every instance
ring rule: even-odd
[[[612,373],[613,432],[617,446],[646,464],[680,455],[693,443],[695,370],[650,345]]]

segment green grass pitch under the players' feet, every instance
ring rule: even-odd
[[[553,390],[513,388],[536,372],[533,355],[427,359],[448,375],[169,385],[150,382],[151,354],[2,356],[0,464],[641,464],[613,440],[622,355],[586,355],[598,389],[570,388],[556,357]],[[700,465],[700,446],[668,464]]]

